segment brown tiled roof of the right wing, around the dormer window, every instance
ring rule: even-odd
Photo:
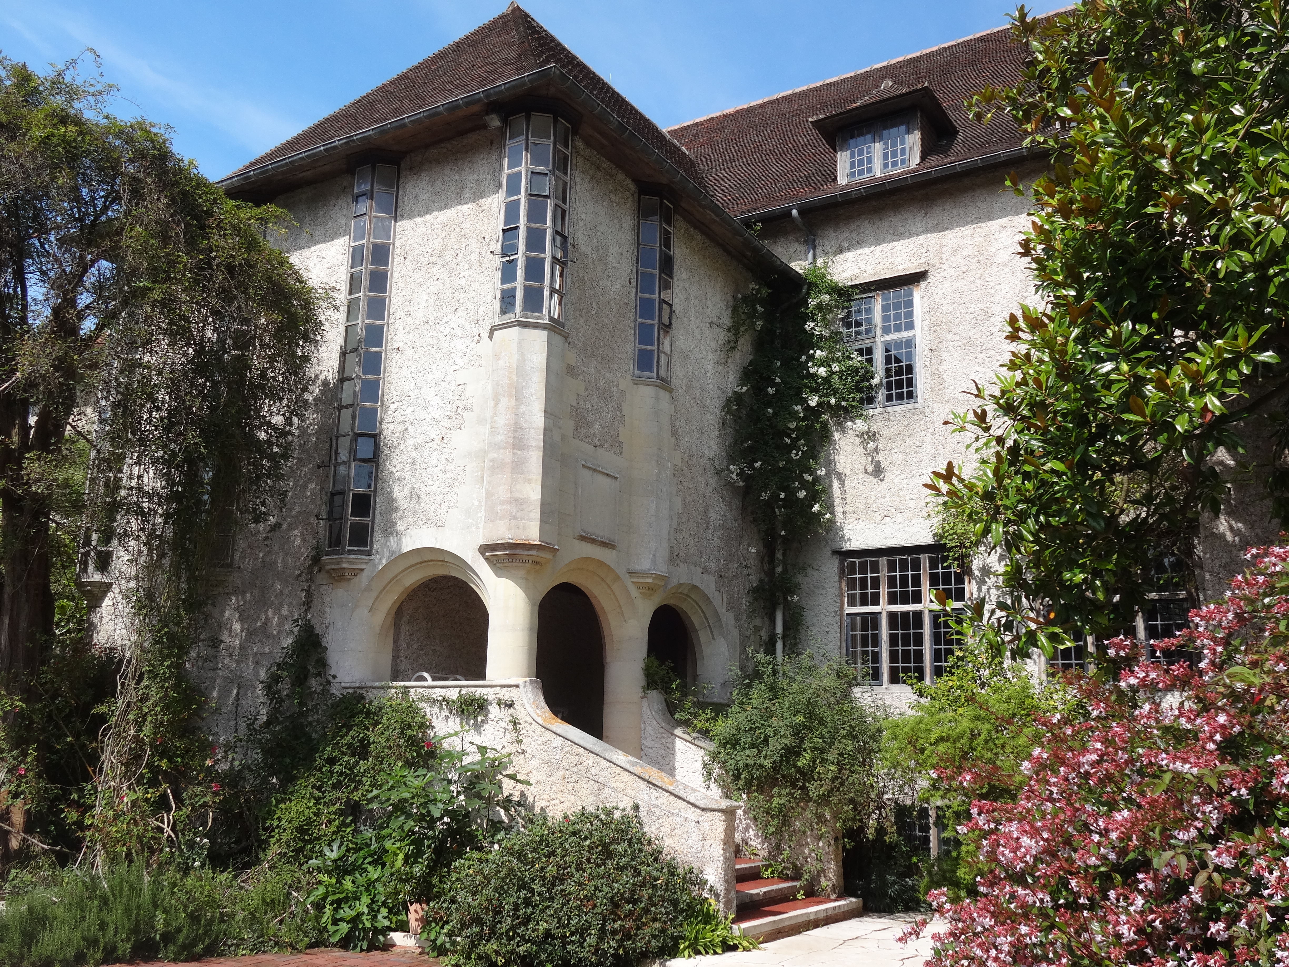
[[[987,125],[963,101],[986,84],[1014,84],[1023,48],[1009,27],[901,57],[833,80],[669,128],[697,162],[708,190],[736,218],[853,188],[837,183],[837,155],[811,125],[875,97],[929,85],[958,134],[923,143],[919,169],[968,161],[1020,147],[1023,135],[1002,112]],[[883,90],[884,81],[891,81]],[[886,175],[898,178],[905,173]],[[864,182],[879,182],[883,178]]]

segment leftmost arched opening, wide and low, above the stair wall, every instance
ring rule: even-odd
[[[389,678],[418,672],[434,679],[480,681],[487,669],[487,606],[460,578],[440,575],[412,588],[394,611]]]

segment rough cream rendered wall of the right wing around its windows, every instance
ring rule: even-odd
[[[842,428],[828,456],[835,523],[806,548],[802,581],[807,641],[821,654],[842,647],[833,551],[932,540],[922,484],[946,460],[967,459],[965,440],[944,422],[967,406],[962,392],[972,380],[987,382],[1005,360],[1003,320],[1032,299],[1014,254],[1027,208],[1004,188],[1003,173],[987,171],[808,219],[819,258],[842,282],[926,272],[916,297],[918,402],[870,410],[867,420]],[[791,222],[766,226],[761,237],[785,260],[804,259]]]

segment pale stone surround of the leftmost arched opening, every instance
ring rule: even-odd
[[[340,630],[340,643],[330,649],[331,670],[342,682],[383,682],[389,679],[393,656],[394,614],[412,589],[449,575],[465,581],[489,609],[487,585],[460,556],[443,548],[415,548],[392,557],[353,592],[349,623]],[[343,585],[333,591],[349,591]],[[491,610],[491,609],[489,609]]]

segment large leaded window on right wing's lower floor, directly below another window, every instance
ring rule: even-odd
[[[865,685],[935,681],[955,647],[949,615],[932,610],[942,591],[967,600],[967,576],[942,553],[887,553],[842,561],[846,660]]]

